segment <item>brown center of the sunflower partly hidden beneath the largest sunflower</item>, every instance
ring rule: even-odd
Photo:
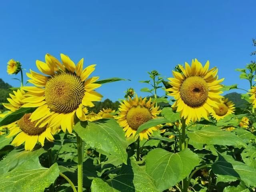
[[[36,123],[38,121],[31,122],[30,121],[31,113],[25,114],[20,120],[18,120],[17,124],[19,128],[28,135],[39,135],[46,130],[46,126],[38,127]]]

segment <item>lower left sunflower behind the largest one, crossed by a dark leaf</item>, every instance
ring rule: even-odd
[[[10,103],[4,104],[4,106],[12,112],[18,110],[24,104],[22,100],[25,99],[25,92],[23,90],[17,90],[17,92],[14,91],[13,93],[14,94],[10,94],[11,98],[8,98]],[[32,150],[37,141],[44,146],[45,138],[51,142],[54,140],[50,128],[47,126],[39,128],[36,124],[37,121],[30,121],[30,116],[31,113],[25,114],[20,120],[3,126],[10,130],[10,134],[6,136],[7,138],[16,135],[12,141],[12,145],[20,146],[25,142],[25,150]]]

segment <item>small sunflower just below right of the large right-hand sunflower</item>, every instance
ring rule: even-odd
[[[217,106],[218,108],[213,108],[215,113],[212,113],[212,117],[217,121],[235,111],[235,104],[232,101],[228,101],[228,98],[222,98]]]

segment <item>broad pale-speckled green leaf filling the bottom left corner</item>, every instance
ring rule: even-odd
[[[7,163],[8,168],[1,162],[0,191],[36,191],[44,192],[59,176],[57,164],[50,168],[44,168],[40,165],[38,155],[42,150],[36,152],[17,152],[8,154],[3,161]],[[12,160],[15,158],[15,160]],[[11,161],[11,163],[8,163]],[[16,164],[14,164],[16,162]],[[12,165],[10,167],[10,165]]]

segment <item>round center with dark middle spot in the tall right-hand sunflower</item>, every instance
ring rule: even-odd
[[[199,76],[186,78],[180,86],[180,97],[190,107],[202,106],[208,98],[206,81]]]

